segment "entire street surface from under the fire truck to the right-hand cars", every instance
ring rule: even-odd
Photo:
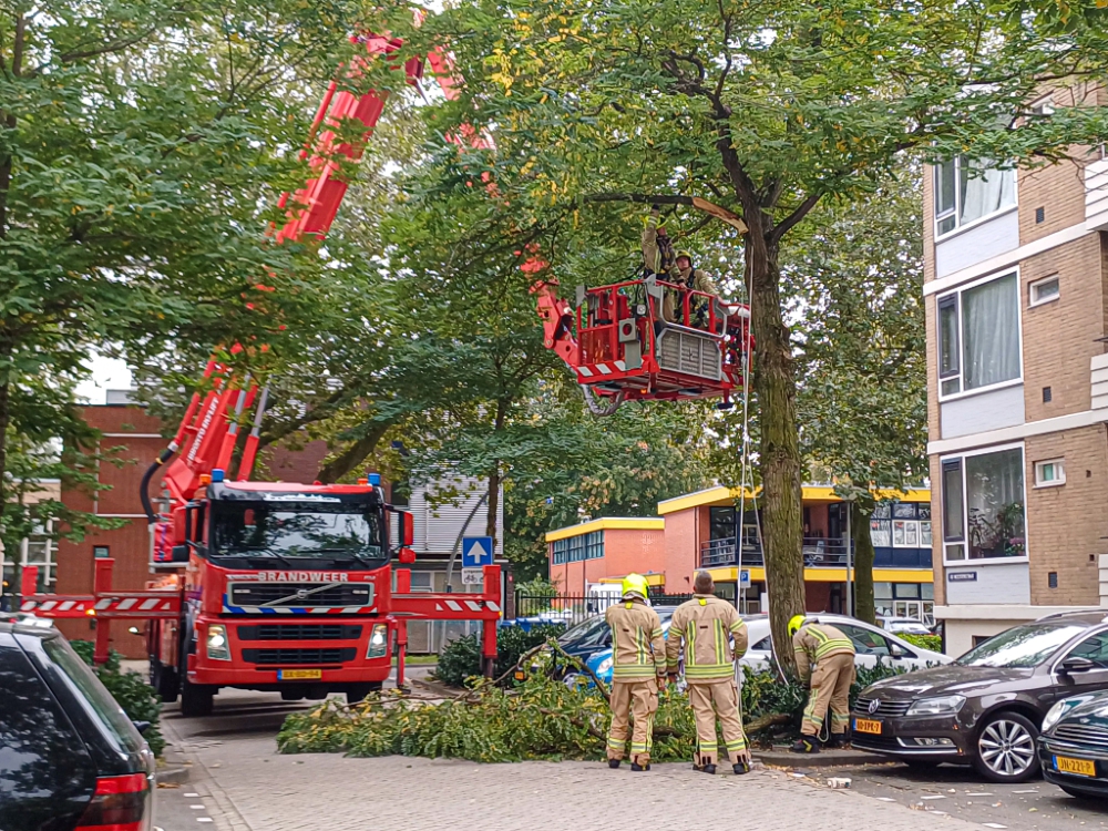
[[[824,772],[818,770],[810,778],[770,769],[708,778],[685,765],[636,774],[626,767],[612,771],[584,762],[279,756],[274,736],[280,722],[307,705],[235,690],[216,700],[216,714],[206,719],[184,719],[175,707],[167,708],[166,732],[191,758],[193,776],[181,788],[158,791],[155,822],[163,831],[626,831],[639,824],[1091,831],[1108,825],[1104,809],[1044,782],[991,786],[962,768],[922,773],[886,765],[830,771],[851,777],[852,788],[844,791],[822,787]]]

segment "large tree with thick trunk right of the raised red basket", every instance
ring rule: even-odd
[[[1096,75],[1108,60],[1084,18],[1057,37],[1036,14],[953,0],[471,0],[418,31],[399,12],[375,21],[414,50],[452,50],[464,79],[447,105],[452,124],[489,123],[497,144],[495,155],[460,153],[458,178],[472,186],[474,171],[488,170],[524,233],[557,217],[561,227],[628,224],[636,219],[613,199],[659,195],[741,214],[748,230],[730,237],[752,288],[779,638],[803,607],[782,246],[818,205],[864,198],[907,156],[1049,161],[1074,142],[1099,141],[1106,120],[1094,109],[1022,117],[1042,82]]]

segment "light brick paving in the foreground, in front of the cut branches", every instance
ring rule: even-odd
[[[172,727],[171,727],[172,732]],[[196,760],[189,784],[219,831],[974,831],[942,811],[915,811],[787,771],[707,777],[688,765],[646,773],[598,762],[473,762],[339,755],[279,756],[271,737],[181,742]]]

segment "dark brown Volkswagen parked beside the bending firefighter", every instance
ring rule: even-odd
[[[1105,611],[1007,629],[953,664],[886,678],[854,705],[852,743],[914,765],[971,762],[994,782],[1039,772],[1035,741],[1061,698],[1108,689]]]

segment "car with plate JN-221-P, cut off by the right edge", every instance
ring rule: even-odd
[[[1043,777],[1071,797],[1108,797],[1108,690],[1058,701],[1043,719]]]

